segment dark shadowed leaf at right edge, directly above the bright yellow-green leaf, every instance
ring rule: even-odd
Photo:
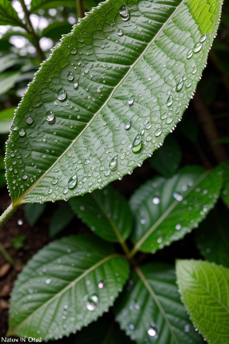
[[[195,230],[198,249],[208,261],[229,267],[229,210],[215,208]]]

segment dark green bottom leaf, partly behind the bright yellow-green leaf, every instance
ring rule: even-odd
[[[174,268],[160,263],[131,274],[131,284],[119,298],[116,320],[137,344],[203,342],[180,301],[175,280]]]

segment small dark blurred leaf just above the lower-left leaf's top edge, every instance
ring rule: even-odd
[[[49,236],[53,238],[62,229],[67,227],[71,222],[75,214],[69,207],[68,203],[63,203],[61,207],[58,207],[51,217],[49,222]]]

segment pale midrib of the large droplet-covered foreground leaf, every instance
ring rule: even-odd
[[[119,83],[113,88],[112,92],[110,93],[110,95],[108,96],[108,98],[105,100],[105,102],[103,103],[103,105],[100,107],[100,109],[98,111],[95,112],[95,114],[92,116],[92,118],[88,121],[88,123],[85,125],[85,127],[82,129],[82,131],[78,134],[78,136],[72,140],[72,143],[65,149],[65,151],[57,158],[57,160],[48,168],[48,170],[20,197],[18,198],[18,200],[12,202],[15,205],[19,205],[22,203],[23,198],[37,185],[39,184],[39,182],[44,178],[44,176],[56,165],[56,163],[67,153],[67,151],[72,147],[72,145],[77,141],[77,139],[83,134],[83,132],[90,126],[91,122],[94,120],[94,118],[101,112],[101,110],[106,106],[106,104],[108,103],[108,101],[111,99],[112,95],[114,94],[115,90],[118,88],[119,85],[122,84],[123,80],[125,80],[125,78],[127,77],[127,75],[132,71],[133,67],[138,63],[138,61],[140,60],[140,58],[146,53],[146,51],[148,50],[148,48],[151,46],[151,44],[156,40],[156,38],[158,37],[158,35],[162,32],[162,30],[165,28],[165,26],[168,24],[168,22],[170,21],[170,19],[175,15],[175,13],[180,9],[180,7],[183,5],[183,3],[186,0],[182,0],[180,2],[180,4],[174,9],[173,13],[169,16],[169,18],[164,22],[164,24],[161,26],[161,28],[158,30],[158,32],[156,33],[156,35],[152,38],[152,40],[148,43],[148,45],[146,46],[146,48],[144,49],[144,51],[142,51],[142,53],[138,56],[138,58],[136,59],[136,61],[130,65],[129,70],[126,72],[126,74],[123,76],[123,78],[119,81]],[[93,11],[93,10],[92,10]],[[90,12],[91,13],[91,12]],[[85,18],[87,18],[87,15],[80,20],[80,23],[82,21],[85,20]],[[78,23],[77,25],[79,25],[80,23]],[[52,55],[51,55],[52,56]]]

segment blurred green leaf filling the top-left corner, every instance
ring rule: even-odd
[[[24,24],[8,0],[0,1],[0,25],[14,25],[24,28]]]

